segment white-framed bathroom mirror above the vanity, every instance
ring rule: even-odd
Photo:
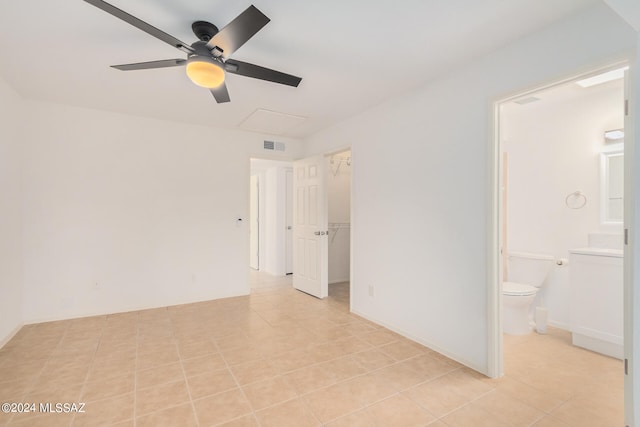
[[[615,149],[602,153],[601,211],[604,223],[622,223],[624,215],[624,152]]]

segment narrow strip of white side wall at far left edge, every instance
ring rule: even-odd
[[[22,326],[22,104],[0,78],[0,347]]]

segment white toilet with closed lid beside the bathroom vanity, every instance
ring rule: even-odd
[[[546,254],[510,252],[507,280],[502,283],[502,330],[526,335],[533,329],[531,305],[551,271],[554,258]]]

